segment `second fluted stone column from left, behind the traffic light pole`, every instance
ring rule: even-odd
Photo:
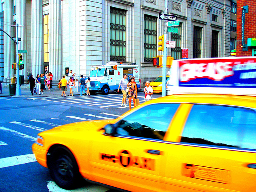
[[[26,37],[26,0],[18,0],[16,2],[16,23],[18,25],[24,25],[18,27],[18,37],[21,38],[19,41],[19,50],[27,50],[27,37]],[[22,53],[22,59],[24,62],[24,69],[19,71],[19,75],[24,75],[24,78],[28,76],[28,64],[27,64],[27,53]],[[30,72],[30,71],[29,71]],[[34,74],[33,74],[34,75]]]

